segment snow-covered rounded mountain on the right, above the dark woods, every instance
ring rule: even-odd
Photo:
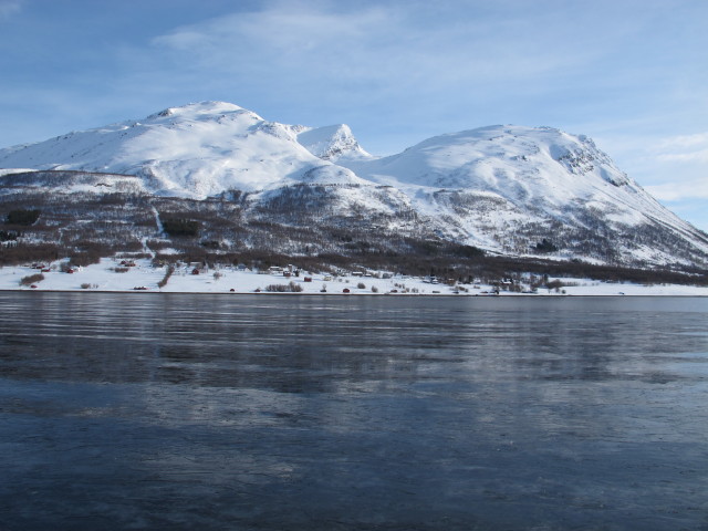
[[[391,157],[340,164],[403,190],[418,211],[486,248],[512,250],[501,240],[513,240],[525,227],[554,222],[592,231],[602,221],[616,230],[660,225],[708,251],[694,227],[660,206],[590,138],[551,127],[482,127],[436,136]]]

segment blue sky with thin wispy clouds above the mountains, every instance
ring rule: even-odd
[[[375,155],[592,137],[708,231],[706,0],[0,0],[0,147],[215,100]]]

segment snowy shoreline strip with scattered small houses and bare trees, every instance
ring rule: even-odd
[[[476,279],[410,277],[364,268],[350,271],[305,271],[295,264],[248,268],[244,264],[155,264],[150,259],[102,259],[72,267],[65,260],[0,268],[0,290],[98,291],[135,293],[262,293],[321,295],[450,295],[450,296],[708,296],[708,288],[678,284],[601,282],[591,279],[538,277]]]

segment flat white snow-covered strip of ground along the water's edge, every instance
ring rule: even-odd
[[[149,259],[134,260],[134,266],[125,267],[124,259],[103,259],[101,263],[79,268],[73,273],[62,272],[62,262],[45,263],[40,269],[24,267],[0,268],[0,290],[29,291],[131,291],[185,292],[185,293],[272,293],[269,287],[293,285],[302,291],[289,293],[344,294],[420,294],[420,295],[489,295],[494,288],[488,284],[434,283],[430,279],[391,275],[383,272],[352,272],[333,275],[300,271],[299,275],[285,277],[281,272],[259,273],[248,269],[218,268],[202,269],[192,266],[176,268],[167,284],[159,288],[167,267],[153,267]],[[38,264],[39,266],[39,264]],[[65,268],[63,268],[65,269]],[[195,269],[198,274],[195,274]],[[116,271],[117,270],[117,271]],[[25,281],[31,275],[42,274],[42,280]],[[310,279],[310,280],[309,280]],[[550,279],[554,280],[554,279]],[[708,296],[708,288],[675,284],[642,285],[633,283],[610,283],[587,279],[559,279],[566,285],[559,289],[541,288],[535,295],[500,291],[501,296],[519,294],[538,295],[667,295]]]

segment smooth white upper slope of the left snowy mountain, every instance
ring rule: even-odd
[[[138,175],[155,192],[194,198],[294,184],[313,168],[320,181],[358,181],[303,147],[301,131],[238,105],[201,102],[2,149],[0,167]]]

